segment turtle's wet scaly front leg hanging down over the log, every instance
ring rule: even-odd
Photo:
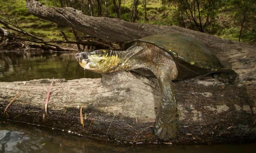
[[[162,98],[154,132],[161,140],[175,138],[179,127],[178,108],[171,76],[169,70],[160,70],[157,76]]]

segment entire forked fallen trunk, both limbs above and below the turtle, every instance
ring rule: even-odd
[[[115,41],[116,37],[119,37],[119,42],[124,42],[167,32],[188,35],[202,41],[221,60],[231,63],[232,69],[239,77],[234,85],[216,82],[211,77],[174,82],[180,129],[177,138],[171,142],[255,142],[255,46],[177,26],[156,26],[105,17],[88,17],[72,8],[47,8],[36,1],[27,1],[27,5],[31,13],[43,19],[66,23],[81,31],[93,29],[93,36],[104,37],[109,41]],[[48,11],[50,13],[47,13]],[[127,34],[123,33],[124,30]],[[2,111],[7,103],[22,91],[8,109],[9,117],[1,113],[0,118],[53,127],[60,129],[60,132],[71,130],[86,136],[107,137],[125,142],[158,141],[152,126],[158,114],[160,100],[156,79],[147,79],[130,72],[117,72],[105,74],[102,79],[55,80],[48,113],[42,121],[50,82],[49,79],[41,79],[26,83],[0,83]],[[78,108],[81,105],[83,115],[87,115],[87,119],[84,119],[85,128],[80,125]]]

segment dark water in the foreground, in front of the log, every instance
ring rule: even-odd
[[[124,144],[0,120],[0,153],[255,153],[256,144]]]

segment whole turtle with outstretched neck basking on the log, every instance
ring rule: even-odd
[[[75,54],[85,70],[97,73],[135,71],[156,77],[161,90],[161,108],[154,126],[161,140],[174,139],[179,115],[173,81],[212,74],[219,81],[234,82],[231,64],[219,60],[206,45],[182,34],[156,34],[123,44],[123,51],[95,50]]]

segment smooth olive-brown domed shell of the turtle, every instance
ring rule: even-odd
[[[156,34],[126,42],[123,47],[127,49],[132,44],[141,42],[153,44],[169,53],[180,69],[179,74],[186,75],[182,80],[231,68],[230,64],[221,62],[206,45],[189,36]],[[187,76],[188,73],[192,76]]]

